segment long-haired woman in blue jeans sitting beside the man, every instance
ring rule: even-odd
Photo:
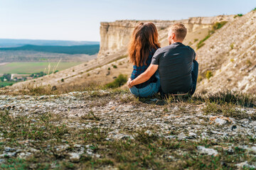
[[[158,33],[154,23],[139,23],[132,33],[129,43],[129,61],[133,64],[132,77],[136,79],[149,67],[154,52],[160,47]],[[160,79],[158,71],[142,84],[132,86],[129,90],[138,97],[149,97],[158,93]]]

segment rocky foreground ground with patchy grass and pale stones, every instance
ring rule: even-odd
[[[3,93],[2,93],[3,94]],[[255,99],[0,96],[1,169],[256,169]]]

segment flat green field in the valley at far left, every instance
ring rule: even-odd
[[[81,63],[82,62],[60,62],[56,70],[60,71],[63,69],[68,69]],[[45,68],[46,73],[48,73],[48,64],[49,62],[11,62],[9,64],[0,66],[0,74],[31,74],[36,72],[44,72]],[[57,64],[58,62],[50,62],[50,72]]]

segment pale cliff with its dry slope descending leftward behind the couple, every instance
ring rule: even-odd
[[[188,28],[188,35],[184,43],[196,47],[196,39],[201,40],[208,35],[208,31],[216,22],[233,22],[233,16],[215,16],[189,18],[182,21],[152,21],[159,30],[161,47],[168,45],[167,32],[173,23],[183,23]],[[12,88],[26,86],[74,86],[97,83],[106,84],[113,81],[119,74],[131,74],[132,65],[127,59],[127,44],[130,34],[139,21],[115,21],[113,23],[101,23],[100,27],[100,52],[96,60],[85,64],[51,74],[43,79],[33,79],[14,84]],[[115,66],[115,67],[114,67]],[[63,79],[63,81],[62,81]]]

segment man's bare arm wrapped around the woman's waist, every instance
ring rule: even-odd
[[[129,79],[127,81],[127,85],[129,88],[132,88],[132,86],[137,85],[137,84],[142,84],[145,81],[149,80],[151,76],[156,72],[158,69],[159,65],[156,64],[150,64],[149,67],[146,69],[146,71],[142,74],[140,74],[136,79],[131,80]]]

